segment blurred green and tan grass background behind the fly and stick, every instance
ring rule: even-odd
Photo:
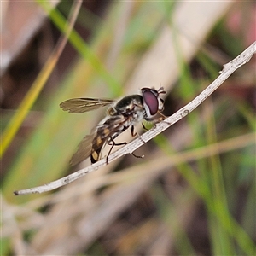
[[[128,155],[52,193],[13,195],[74,172],[68,161],[104,116],[65,113],[60,102],[164,86],[171,115],[255,40],[253,2],[83,2],[54,66],[74,4],[3,6],[2,254],[255,254],[255,57],[139,148],[143,160]]]

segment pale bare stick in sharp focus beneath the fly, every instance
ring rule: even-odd
[[[145,132],[142,136],[133,140],[131,143],[128,143],[123,148],[119,148],[117,151],[113,152],[108,156],[108,163],[113,160],[118,159],[119,157],[125,154],[132,154],[137,148],[141,147],[144,143],[147,143],[149,140],[160,134],[160,132],[165,131],[171,125],[177,123],[178,120],[183,119],[188,113],[192,112],[196,107],[198,107],[201,102],[205,101],[208,96],[212,95],[214,90],[217,90],[218,87],[224,83],[226,79],[230,77],[232,73],[236,71],[239,67],[246,64],[253,55],[256,53],[256,42],[251,44],[246,50],[244,50],[241,55],[238,55],[233,61],[224,65],[224,69],[220,72],[220,75],[215,79],[212,84],[207,86],[205,90],[201,92],[199,96],[196,96],[192,102],[189,102],[186,106],[178,110],[176,113],[167,119],[161,121],[159,124],[156,124],[154,128]],[[26,195],[33,193],[44,193],[53,189],[60,188],[61,186],[67,185],[68,183],[73,182],[79,177],[83,177],[89,172],[96,171],[101,166],[106,166],[106,160],[102,159],[96,162],[95,164],[88,166],[84,169],[74,172],[66,177],[62,177],[54,182],[44,184],[43,186],[38,186],[32,189],[22,189],[14,192],[15,195]]]

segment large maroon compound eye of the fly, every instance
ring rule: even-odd
[[[143,88],[142,94],[150,115],[154,116],[159,110],[158,92],[154,89]]]

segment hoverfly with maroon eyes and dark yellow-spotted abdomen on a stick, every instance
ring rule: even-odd
[[[70,113],[84,113],[108,106],[107,116],[79,143],[70,165],[77,165],[89,156],[91,163],[95,163],[100,160],[102,148],[106,144],[111,145],[107,155],[108,164],[108,156],[113,147],[126,144],[114,142],[119,134],[131,127],[131,136],[135,137],[137,133],[134,133],[134,125],[143,119],[153,123],[165,119],[161,113],[164,109],[164,100],[160,98],[160,94],[165,93],[163,87],[159,90],[145,87],[140,90],[140,94],[125,96],[118,102],[94,98],[74,98],[61,102],[60,107]],[[157,113],[160,114],[159,118],[156,118]]]

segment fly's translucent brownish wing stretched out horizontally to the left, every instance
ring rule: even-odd
[[[108,99],[74,98],[61,102],[60,107],[64,111],[68,111],[70,113],[84,113],[90,110],[108,106],[113,102],[113,100]]]

